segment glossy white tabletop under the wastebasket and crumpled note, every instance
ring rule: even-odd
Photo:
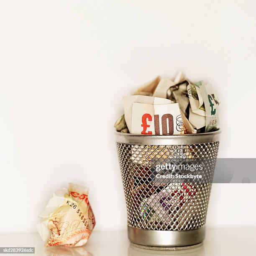
[[[38,256],[251,256],[256,255],[256,228],[207,229],[203,245],[188,251],[164,252],[135,248],[129,243],[126,231],[94,231],[87,244],[78,248],[45,248],[38,234],[0,235],[0,247],[5,246],[35,247],[34,255]]]

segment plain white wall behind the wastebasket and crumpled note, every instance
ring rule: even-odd
[[[255,8],[248,0],[1,0],[0,233],[35,231],[68,182],[90,188],[97,230],[125,228],[113,123],[121,96],[157,74],[183,70],[212,83],[219,157],[255,157]],[[256,225],[255,189],[214,184],[207,225]]]

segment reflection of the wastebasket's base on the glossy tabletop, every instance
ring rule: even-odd
[[[179,255],[179,256],[205,256],[205,248],[202,245],[192,249],[166,251],[166,250],[148,250],[146,248],[138,248],[133,244],[128,247],[128,256],[158,256],[158,255]]]

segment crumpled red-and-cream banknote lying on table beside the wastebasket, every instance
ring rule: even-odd
[[[69,183],[57,190],[46,208],[38,215],[36,226],[46,246],[83,246],[95,226],[95,217],[86,187]]]

